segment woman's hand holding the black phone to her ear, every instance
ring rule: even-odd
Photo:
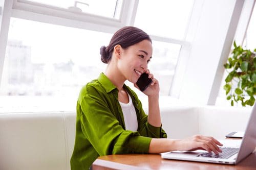
[[[154,78],[154,75],[150,73],[150,70],[146,70],[145,71],[146,74],[148,74],[148,78],[152,79],[152,83],[150,86],[148,86],[143,93],[146,94],[147,96],[154,96],[154,95],[159,95],[159,82],[157,79]],[[136,88],[138,88],[138,86],[136,85],[136,83],[134,84],[134,86]]]

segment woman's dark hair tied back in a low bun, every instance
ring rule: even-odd
[[[121,45],[122,48],[125,49],[143,40],[149,40],[152,42],[150,36],[141,29],[130,26],[123,27],[113,35],[108,46],[100,47],[101,61],[103,63],[108,63],[111,60],[114,47],[117,44]]]

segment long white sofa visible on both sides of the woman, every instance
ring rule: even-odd
[[[169,138],[194,134],[224,138],[243,131],[251,108],[161,108]],[[0,113],[1,170],[65,170],[75,138],[75,112]]]

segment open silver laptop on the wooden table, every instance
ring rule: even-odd
[[[175,159],[175,160],[186,160],[186,161],[197,161],[197,162],[211,162],[211,163],[222,163],[222,164],[237,164],[242,159],[250,155],[256,147],[256,106],[254,105],[248,124],[244,133],[244,137],[237,146],[228,145],[223,143],[220,147],[222,153],[215,155],[214,153],[208,153],[207,151],[197,150],[191,152],[180,152],[173,151],[162,153],[161,157],[164,159]],[[226,140],[225,140],[226,141]],[[236,141],[236,140],[232,140]],[[225,145],[227,144],[227,145]]]

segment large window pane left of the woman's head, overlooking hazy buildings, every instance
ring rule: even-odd
[[[11,18],[0,94],[68,96],[76,101],[80,88],[105,70],[99,48],[111,37]]]

